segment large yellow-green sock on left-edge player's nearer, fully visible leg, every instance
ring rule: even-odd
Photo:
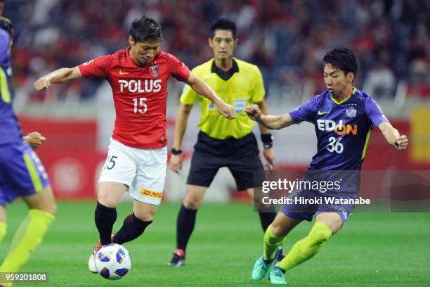
[[[15,232],[11,249],[0,266],[0,272],[18,272],[39,246],[54,218],[48,212],[30,210]]]

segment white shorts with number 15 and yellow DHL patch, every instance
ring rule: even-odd
[[[166,179],[167,146],[157,149],[131,148],[110,139],[100,182],[129,186],[130,196],[144,203],[161,203]]]

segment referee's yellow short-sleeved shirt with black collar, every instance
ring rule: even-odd
[[[215,93],[236,110],[235,120],[227,120],[216,110],[214,103],[197,94],[185,85],[181,103],[193,105],[200,101],[199,129],[214,139],[226,139],[233,136],[240,139],[254,129],[254,121],[245,113],[245,107],[264,99],[264,85],[261,72],[256,65],[233,58],[233,68],[224,72],[216,67],[214,59],[198,65],[193,74],[209,84]]]

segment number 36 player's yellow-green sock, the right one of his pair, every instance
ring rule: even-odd
[[[275,266],[285,271],[296,267],[318,253],[330,236],[332,236],[332,231],[327,225],[323,222],[315,223],[308,236],[294,244],[287,256],[285,256],[282,261],[275,264]]]

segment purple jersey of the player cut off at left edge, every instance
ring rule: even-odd
[[[0,29],[0,144],[22,141],[22,132],[12,110],[9,77],[11,76],[11,56],[8,32]]]

